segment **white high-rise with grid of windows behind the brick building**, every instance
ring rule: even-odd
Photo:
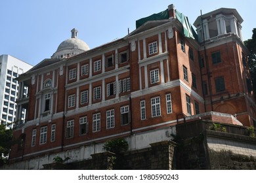
[[[18,75],[30,70],[33,66],[10,55],[0,56],[0,123],[12,127],[16,113],[18,94]],[[28,92],[25,90],[25,92]],[[22,118],[26,111],[24,110]]]

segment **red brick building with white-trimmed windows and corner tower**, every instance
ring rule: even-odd
[[[60,54],[19,77],[29,92],[23,95],[20,87],[17,119],[26,109],[26,121],[14,130],[21,142],[12,147],[11,161],[175,126],[209,111],[253,125],[242,21],[235,9],[209,12],[194,23],[197,37],[170,5],[97,48],[66,52],[78,43],[62,42]]]

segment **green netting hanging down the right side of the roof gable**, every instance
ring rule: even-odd
[[[184,16],[181,12],[175,10],[176,18],[181,22],[183,27],[183,34],[185,37],[190,37],[192,39],[198,40],[198,35],[192,25],[188,21],[188,17]]]

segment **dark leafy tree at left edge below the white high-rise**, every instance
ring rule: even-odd
[[[11,146],[12,129],[6,129],[4,124],[0,124],[0,166],[7,163]]]

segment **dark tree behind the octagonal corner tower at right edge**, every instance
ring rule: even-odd
[[[244,44],[249,50],[249,71],[251,73],[251,80],[253,82],[253,93],[255,93],[256,97],[256,28],[253,29],[251,39],[244,41]]]

